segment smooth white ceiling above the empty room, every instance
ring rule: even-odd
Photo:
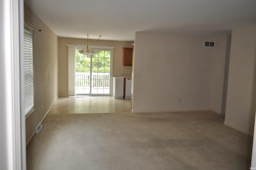
[[[137,31],[229,34],[256,24],[256,0],[24,0],[60,37],[134,40]]]

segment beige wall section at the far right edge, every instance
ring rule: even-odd
[[[256,25],[232,31],[224,124],[253,134],[256,104]]]

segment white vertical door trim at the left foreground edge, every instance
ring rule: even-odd
[[[25,119],[22,107],[22,90],[21,85],[23,71],[20,60],[23,59],[23,24],[22,20],[23,0],[4,0],[4,64],[5,76],[3,87],[6,105],[3,114],[6,115],[6,165],[2,165],[6,170],[26,170],[26,142],[24,141]],[[22,26],[22,27],[21,27]],[[21,61],[22,62],[22,61]]]

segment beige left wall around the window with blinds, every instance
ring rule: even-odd
[[[26,140],[58,98],[58,37],[31,10],[24,6],[24,19],[42,30],[33,31],[34,112],[26,117]],[[39,107],[43,110],[39,113]]]

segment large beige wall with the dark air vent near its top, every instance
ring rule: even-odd
[[[204,40],[216,47],[204,48]],[[134,50],[134,112],[212,109],[220,114],[226,36],[136,32]]]

